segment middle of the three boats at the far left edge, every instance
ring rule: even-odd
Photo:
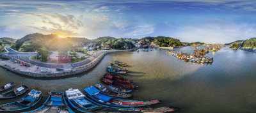
[[[13,89],[12,91],[8,91],[6,93],[0,94],[0,98],[14,98],[16,96],[19,96],[19,95],[25,93],[28,90],[29,90],[29,87],[26,86],[25,84],[22,84],[22,85],[18,86],[17,88]]]

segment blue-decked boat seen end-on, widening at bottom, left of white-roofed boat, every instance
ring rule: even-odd
[[[70,109],[70,107],[68,107],[68,104],[64,99],[64,93],[56,92],[56,91],[51,91],[51,93],[49,93],[47,100],[43,103],[41,107],[26,113],[46,113],[46,112],[74,113]]]

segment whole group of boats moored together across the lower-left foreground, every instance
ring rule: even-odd
[[[115,66],[112,64],[112,66]],[[118,67],[120,68],[120,67]],[[122,68],[121,70],[126,70]],[[151,108],[148,105],[155,105],[159,100],[127,100],[130,98],[132,89],[138,87],[132,80],[127,80],[116,73],[105,74],[102,82],[94,86],[85,87],[83,91],[79,89],[68,89],[65,92],[51,91],[47,100],[38,109],[31,110],[28,113],[42,112],[173,112],[178,110],[174,107]],[[1,87],[0,91],[5,91],[15,86],[15,82],[10,82]],[[0,98],[15,98],[29,91],[29,87],[22,84],[15,89],[0,94]],[[1,111],[19,111],[33,107],[38,103],[43,94],[41,91],[33,89],[26,96],[12,103],[0,105]]]

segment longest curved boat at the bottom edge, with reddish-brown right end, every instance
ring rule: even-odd
[[[89,100],[90,102],[100,105],[104,107],[102,110],[98,110],[97,112],[148,112],[148,113],[164,113],[164,112],[173,112],[176,110],[179,110],[179,108],[174,108],[174,107],[157,107],[157,108],[150,108],[150,109],[137,109],[137,108],[132,108],[132,107],[113,107],[109,105],[104,105],[102,103],[96,102],[92,98],[85,97],[86,100]],[[95,111],[96,112],[96,111]]]

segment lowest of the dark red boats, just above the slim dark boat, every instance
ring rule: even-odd
[[[137,87],[135,84],[127,84],[127,83],[123,83],[123,82],[117,82],[115,80],[111,80],[111,79],[107,79],[107,78],[102,78],[101,81],[106,84],[109,84],[109,85],[111,84],[116,87],[122,87],[124,89],[134,89],[135,87]]]

